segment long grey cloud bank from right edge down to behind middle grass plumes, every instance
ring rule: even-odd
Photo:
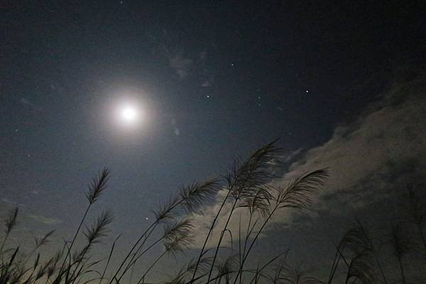
[[[336,127],[332,137],[324,144],[300,153],[295,151],[288,172],[273,181],[275,185],[292,181],[297,176],[315,169],[328,167],[330,178],[324,191],[313,200],[310,217],[318,212],[345,215],[389,198],[401,190],[400,185],[417,180],[426,173],[426,77],[395,84],[376,103],[366,107],[356,120]],[[295,159],[295,160],[294,160]],[[218,203],[224,191],[217,195]],[[196,215],[200,222],[195,246],[202,246],[209,224],[219,209],[218,204]],[[225,205],[224,216],[230,205]],[[233,240],[238,237],[239,224],[246,224],[247,214],[240,212],[229,222]],[[298,213],[296,213],[298,214]],[[307,213],[304,213],[307,215]],[[226,222],[220,217],[217,228]],[[278,212],[271,225],[295,225],[297,215],[288,210]],[[300,216],[300,215],[298,215]],[[240,219],[241,218],[241,219]],[[240,221],[241,220],[241,221]],[[299,218],[300,220],[300,218]],[[306,218],[301,220],[306,222]],[[212,242],[219,237],[214,231]],[[267,234],[264,233],[263,236]],[[230,238],[226,237],[226,244]]]

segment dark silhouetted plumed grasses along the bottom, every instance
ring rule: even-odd
[[[113,267],[116,239],[107,255],[93,259],[92,252],[97,243],[107,234],[112,222],[110,212],[102,212],[91,223],[87,215],[92,205],[107,190],[109,170],[104,169],[96,176],[86,193],[87,208],[84,209],[80,225],[71,239],[53,256],[45,256],[43,248],[53,232],[35,240],[35,246],[23,253],[20,246],[9,246],[18,219],[18,208],[4,218],[4,236],[0,243],[0,284],[117,284],[129,283],[129,274],[138,271],[138,277],[131,284],[152,283],[149,275],[155,266],[161,265],[166,257],[175,257],[190,249],[195,227],[192,215],[201,213],[204,205],[219,202],[217,214],[212,218],[206,232],[204,246],[195,259],[187,260],[177,268],[178,273],[166,283],[273,283],[273,284],[315,284],[315,283],[410,283],[407,275],[410,261],[426,255],[426,207],[416,197],[414,187],[408,187],[408,214],[391,225],[382,236],[370,234],[363,222],[356,220],[354,226],[334,244],[335,257],[330,261],[326,278],[318,279],[306,275],[287,258],[288,249],[271,255],[270,261],[253,263],[250,259],[253,247],[261,242],[259,237],[281,210],[304,210],[310,206],[314,195],[320,193],[327,178],[327,169],[306,173],[294,181],[281,186],[272,186],[271,181],[280,169],[283,155],[275,142],[266,144],[253,152],[247,159],[236,159],[223,178],[213,178],[183,187],[167,203],[155,210],[155,220],[134,240],[123,259]],[[221,191],[221,194],[218,192]],[[248,224],[240,225],[237,232],[229,228],[231,217],[239,210],[246,210]],[[219,217],[224,222],[219,222]],[[222,220],[223,221],[223,220]],[[222,225],[222,232],[212,246],[212,232]],[[158,233],[158,231],[160,233]],[[85,244],[77,242],[84,235]],[[160,237],[158,237],[160,236]],[[376,232],[374,234],[376,236]],[[225,238],[237,239],[234,249],[224,247]],[[155,246],[163,246],[156,258],[146,258],[147,252]],[[389,271],[388,261],[398,263],[398,271]],[[138,267],[144,263],[144,270]],[[146,264],[148,263],[148,264]],[[422,271],[418,275],[421,275]],[[416,276],[417,277],[417,276]],[[418,278],[417,278],[418,279]],[[418,280],[416,283],[422,283]]]

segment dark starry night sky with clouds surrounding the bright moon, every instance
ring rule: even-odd
[[[420,11],[414,1],[2,1],[0,211],[21,208],[21,239],[56,228],[60,243],[109,166],[96,208],[114,212],[111,238],[126,246],[180,186],[280,137],[285,178],[330,166],[317,206],[327,243],[363,198],[386,203],[368,188],[425,173]],[[141,110],[135,125],[116,115],[126,101]],[[293,259],[315,259],[315,220],[278,217],[265,237],[284,247],[293,222]]]

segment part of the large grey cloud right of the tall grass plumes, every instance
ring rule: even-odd
[[[410,84],[393,86],[354,123],[337,127],[329,141],[310,149],[302,159],[295,161],[283,179],[291,180],[304,172],[327,166],[331,177],[327,181],[326,195],[349,193],[341,195],[341,202],[354,208],[383,197],[376,193],[388,194],[380,190],[393,187],[396,180],[408,180],[421,174],[426,167],[424,83],[425,79],[420,78]],[[413,165],[414,171],[405,171]],[[354,194],[359,192],[364,197],[374,194],[371,198],[356,198]],[[326,203],[317,205],[328,208]]]

